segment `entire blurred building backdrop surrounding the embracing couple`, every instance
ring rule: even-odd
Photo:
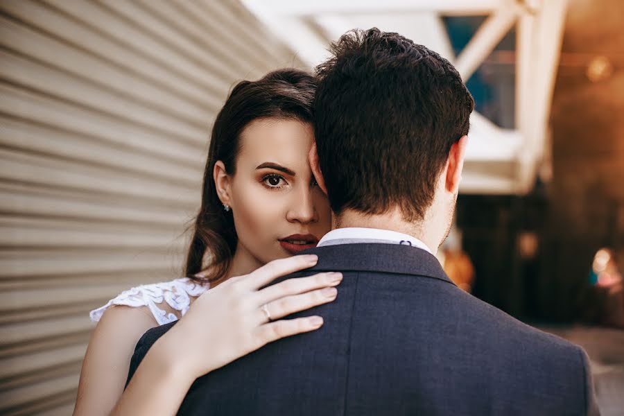
[[[180,276],[232,85],[311,69],[371,26],[449,58],[476,98],[449,270],[583,345],[603,413],[624,413],[624,2],[0,0],[0,13],[1,414],[71,414],[88,311]]]

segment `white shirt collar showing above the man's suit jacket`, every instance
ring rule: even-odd
[[[363,227],[332,229],[330,232],[325,234],[322,239],[320,239],[317,247],[321,247],[322,245],[336,244],[337,240],[353,240],[345,241],[344,243],[405,244],[421,248],[422,250],[426,250],[427,252],[431,253],[431,250],[426,246],[425,243],[408,234],[391,231],[390,229]]]

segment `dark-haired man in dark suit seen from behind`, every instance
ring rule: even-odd
[[[310,251],[317,266],[297,275],[343,272],[338,300],[314,312],[322,329],[198,379],[180,413],[595,412],[580,347],[461,291],[433,255],[451,226],[474,108],[456,69],[375,28],[332,51],[318,67],[310,159],[334,229]],[[130,374],[164,330],[144,336]]]

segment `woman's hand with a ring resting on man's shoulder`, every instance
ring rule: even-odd
[[[271,261],[249,275],[227,279],[198,297],[153,348],[162,349],[160,357],[173,358],[171,364],[184,369],[193,381],[267,343],[320,328],[320,316],[280,318],[335,300],[333,286],[340,284],[342,274],[287,279],[259,290],[317,261],[313,254],[289,257]]]

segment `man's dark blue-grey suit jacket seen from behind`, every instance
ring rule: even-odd
[[[461,291],[428,252],[388,244],[309,252],[318,254],[318,265],[295,277],[344,274],[335,302],[296,314],[318,313],[323,327],[200,377],[180,415],[597,412],[580,347]],[[141,338],[129,378],[169,327]]]

